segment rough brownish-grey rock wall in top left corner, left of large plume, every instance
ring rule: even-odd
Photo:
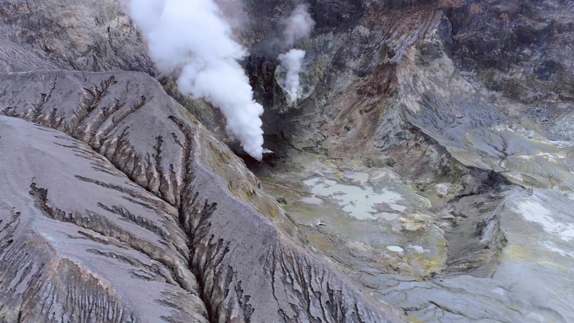
[[[156,73],[120,1],[2,0],[0,32],[59,68]]]

